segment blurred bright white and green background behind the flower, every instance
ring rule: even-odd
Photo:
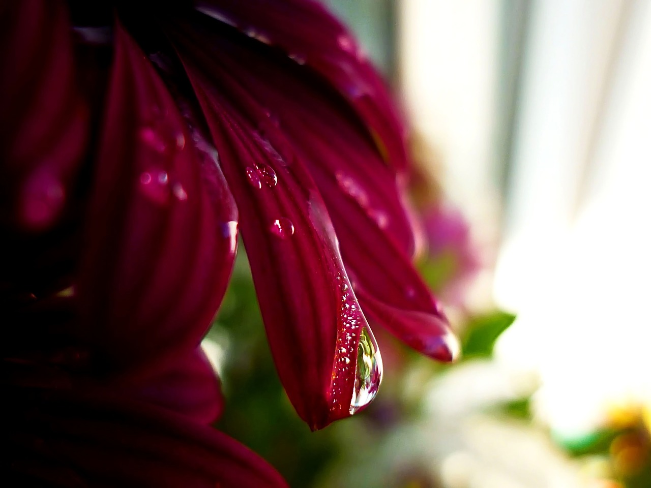
[[[411,124],[419,266],[464,359],[378,332],[378,398],[311,433],[240,253],[204,342],[219,427],[292,487],[651,487],[651,0],[327,3]]]

